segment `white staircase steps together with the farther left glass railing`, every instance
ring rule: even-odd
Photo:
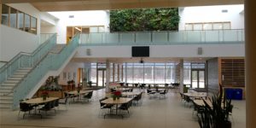
[[[14,103],[14,89],[37,66],[50,49],[55,46],[56,35],[38,46],[31,54],[20,52],[0,68],[0,108],[12,108]]]

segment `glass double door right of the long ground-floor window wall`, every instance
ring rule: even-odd
[[[204,70],[192,70],[191,78],[192,88],[205,88],[206,77]]]

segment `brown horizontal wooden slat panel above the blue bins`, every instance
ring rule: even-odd
[[[220,77],[224,87],[245,87],[244,58],[221,58]]]

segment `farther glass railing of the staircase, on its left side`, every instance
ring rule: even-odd
[[[55,39],[56,34],[48,38],[44,44],[40,44],[32,53],[20,52],[18,55],[15,55],[11,61],[0,68],[0,83],[3,83],[3,81],[8,79],[9,76],[15,73],[20,67],[33,67],[33,65],[56,44]]]

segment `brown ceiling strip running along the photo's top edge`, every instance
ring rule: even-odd
[[[244,0],[2,0],[2,3],[32,3],[41,11],[73,11],[242,4]]]

